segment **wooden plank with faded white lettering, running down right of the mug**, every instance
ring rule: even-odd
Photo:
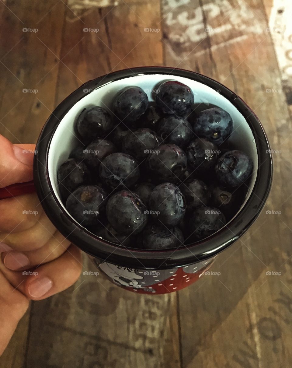
[[[274,155],[273,192],[244,244],[238,241],[217,257],[213,271],[220,276],[203,276],[179,293],[182,366],[286,367],[292,362],[288,325],[282,323],[277,346],[265,336],[279,335],[278,326],[270,320],[262,325],[270,307],[284,313],[279,302],[272,304],[275,290],[280,298],[291,289],[287,280],[266,276],[280,272],[291,248],[291,125],[284,93],[266,92],[282,89],[266,14],[256,0],[193,0],[175,8],[163,2],[163,17],[167,65],[201,72],[234,90],[263,122],[272,148],[282,151]]]

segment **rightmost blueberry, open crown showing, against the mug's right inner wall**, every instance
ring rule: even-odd
[[[225,152],[215,166],[218,181],[228,188],[241,185],[252,173],[253,162],[242,151]]]

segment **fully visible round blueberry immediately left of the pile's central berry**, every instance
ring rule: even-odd
[[[130,188],[138,181],[140,171],[132,156],[116,152],[100,163],[99,177],[102,183],[110,188]]]

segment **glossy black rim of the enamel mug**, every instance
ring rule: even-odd
[[[224,226],[215,234],[194,243],[194,245],[188,245],[187,247],[178,248],[177,250],[129,250],[129,248],[119,247],[102,240],[90,233],[90,231],[84,229],[64,212],[63,208],[58,203],[58,199],[54,194],[53,187],[49,180],[47,163],[51,139],[58,124],[68,110],[70,110],[81,98],[90,93],[91,90],[115,80],[132,77],[138,74],[181,76],[203,83],[212,89],[220,90],[220,94],[227,98],[248,122],[257,147],[258,169],[256,181],[253,191],[241,211],[227,224],[227,226]],[[87,89],[89,92],[84,92],[84,89]],[[36,193],[38,194],[44,211],[54,226],[67,237],[71,243],[76,244],[86,253],[102,261],[107,261],[116,265],[138,269],[169,269],[212,258],[219,252],[228,248],[249,229],[259,216],[270,192],[273,178],[273,161],[270,145],[263,126],[256,114],[233,91],[214,79],[196,72],[169,67],[138,67],[115,71],[92,79],[72,92],[56,107],[44,124],[36,144],[36,153],[33,161],[33,178]]]

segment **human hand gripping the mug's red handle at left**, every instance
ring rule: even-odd
[[[32,180],[34,149],[0,135],[0,188]],[[0,200],[0,253],[1,355],[29,300],[67,289],[82,263],[79,248],[56,230],[35,193]]]

